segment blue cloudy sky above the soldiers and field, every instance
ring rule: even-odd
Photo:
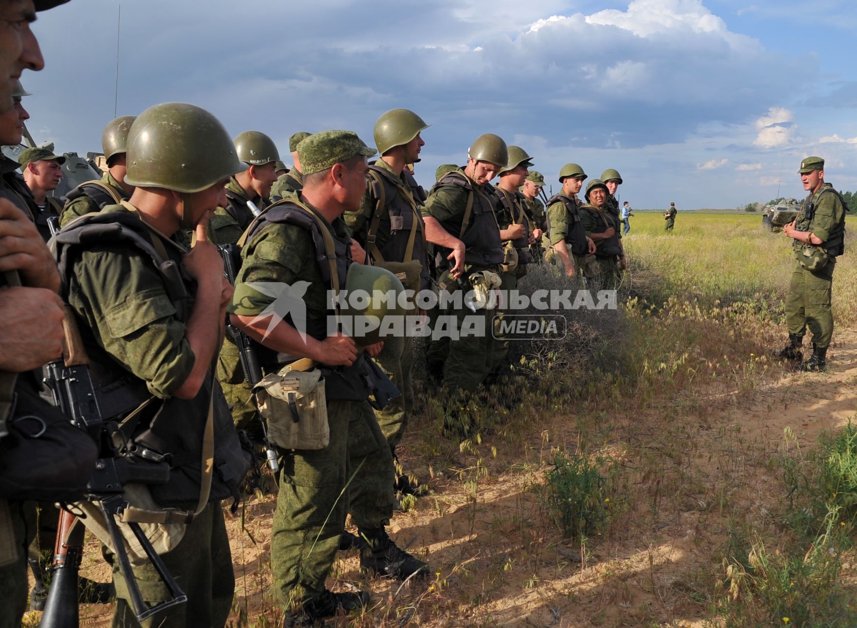
[[[837,188],[857,189],[853,0],[121,4],[118,115],[183,100],[232,135],[271,135],[288,157],[297,130],[372,143],[375,119],[407,107],[432,124],[417,164],[426,187],[492,132],[524,147],[554,190],[569,161],[590,176],[620,170],[620,197],[639,208],[801,196],[809,154]],[[117,3],[72,0],[33,30],[46,61],[22,81],[33,136],[99,150]]]

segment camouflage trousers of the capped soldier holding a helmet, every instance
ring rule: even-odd
[[[271,561],[272,593],[284,607],[321,595],[350,509],[360,528],[393,516],[393,454],[372,408],[328,400],[327,421],[324,449],[280,452]]]

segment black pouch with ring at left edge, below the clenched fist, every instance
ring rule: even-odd
[[[80,499],[95,470],[95,441],[19,384],[0,440],[0,499]]]

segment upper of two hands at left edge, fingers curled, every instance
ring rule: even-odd
[[[0,272],[18,271],[28,286],[59,290],[57,264],[27,215],[0,199]]]

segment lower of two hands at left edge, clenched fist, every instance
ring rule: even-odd
[[[46,288],[0,290],[0,370],[21,373],[63,355],[63,300]]]

